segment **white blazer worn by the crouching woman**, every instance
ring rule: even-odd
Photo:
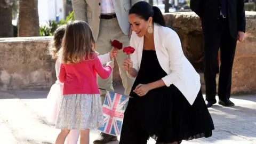
[[[133,31],[130,44],[135,52],[131,55],[133,68],[140,69],[144,37],[138,37]],[[193,105],[201,89],[200,76],[185,57],[180,38],[174,30],[154,24],[154,43],[157,59],[167,73],[162,78],[166,86],[175,85]],[[150,73],[150,71],[149,71]]]

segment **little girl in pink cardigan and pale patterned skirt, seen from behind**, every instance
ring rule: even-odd
[[[64,143],[70,130],[79,130],[80,143],[89,144],[90,129],[103,125],[97,74],[108,78],[113,62],[102,67],[94,49],[90,26],[84,21],[68,23],[62,40],[59,74],[63,97],[55,124],[61,132],[55,143]]]

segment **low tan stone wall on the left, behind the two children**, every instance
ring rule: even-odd
[[[55,83],[55,61],[47,52],[51,39],[0,38],[0,90],[42,90]],[[121,79],[117,66],[113,78],[114,84]]]

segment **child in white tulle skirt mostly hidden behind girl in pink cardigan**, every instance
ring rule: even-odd
[[[50,123],[56,122],[57,111],[59,109],[59,103],[62,98],[63,83],[59,81],[59,77],[58,77],[60,72],[61,57],[57,57],[57,53],[60,50],[61,41],[65,34],[65,30],[66,30],[66,26],[61,26],[55,31],[52,45],[49,47],[49,52],[52,58],[56,60],[55,70],[57,75],[57,81],[55,84],[53,84],[49,94],[47,95],[48,110],[47,110],[46,118]],[[107,54],[99,55],[99,60],[102,62],[102,64],[106,64],[108,61],[115,58],[116,55],[117,55],[117,50],[111,50]],[[66,139],[66,144],[76,144],[78,141],[78,137],[79,137],[79,131],[71,130]]]

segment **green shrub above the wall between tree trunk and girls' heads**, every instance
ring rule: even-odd
[[[49,20],[47,22],[47,25],[41,26],[39,28],[40,36],[52,36],[54,31],[61,25],[66,25],[69,21],[74,21],[74,12],[69,12],[69,15],[65,20],[60,20],[59,22],[56,22],[55,20]]]

